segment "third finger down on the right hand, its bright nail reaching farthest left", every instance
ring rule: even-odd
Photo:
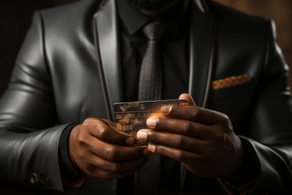
[[[203,153],[208,147],[208,143],[202,139],[156,130],[140,130],[137,137],[140,141],[149,141],[194,153]]]

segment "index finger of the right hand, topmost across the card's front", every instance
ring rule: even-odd
[[[192,120],[198,123],[215,124],[222,120],[226,120],[228,117],[218,111],[212,111],[197,106],[188,107],[174,107],[165,106],[161,107],[163,114],[170,118],[179,118],[184,120]]]

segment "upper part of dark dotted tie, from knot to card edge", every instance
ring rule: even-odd
[[[148,38],[148,44],[140,70],[138,100],[161,100],[162,62],[159,40],[165,30],[158,22],[152,22],[144,27],[143,33]]]

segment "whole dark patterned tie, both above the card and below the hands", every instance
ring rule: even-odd
[[[158,22],[144,27],[143,33],[148,38],[147,49],[143,57],[139,79],[139,101],[161,100],[162,63],[159,52],[159,40],[165,30]],[[139,192],[159,191],[161,179],[161,156],[154,154],[149,161],[135,173],[136,194]]]

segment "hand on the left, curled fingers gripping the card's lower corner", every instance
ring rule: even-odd
[[[70,159],[91,178],[124,178],[138,171],[153,155],[147,146],[131,146],[133,143],[133,138],[118,132],[112,121],[88,118],[70,134]]]

